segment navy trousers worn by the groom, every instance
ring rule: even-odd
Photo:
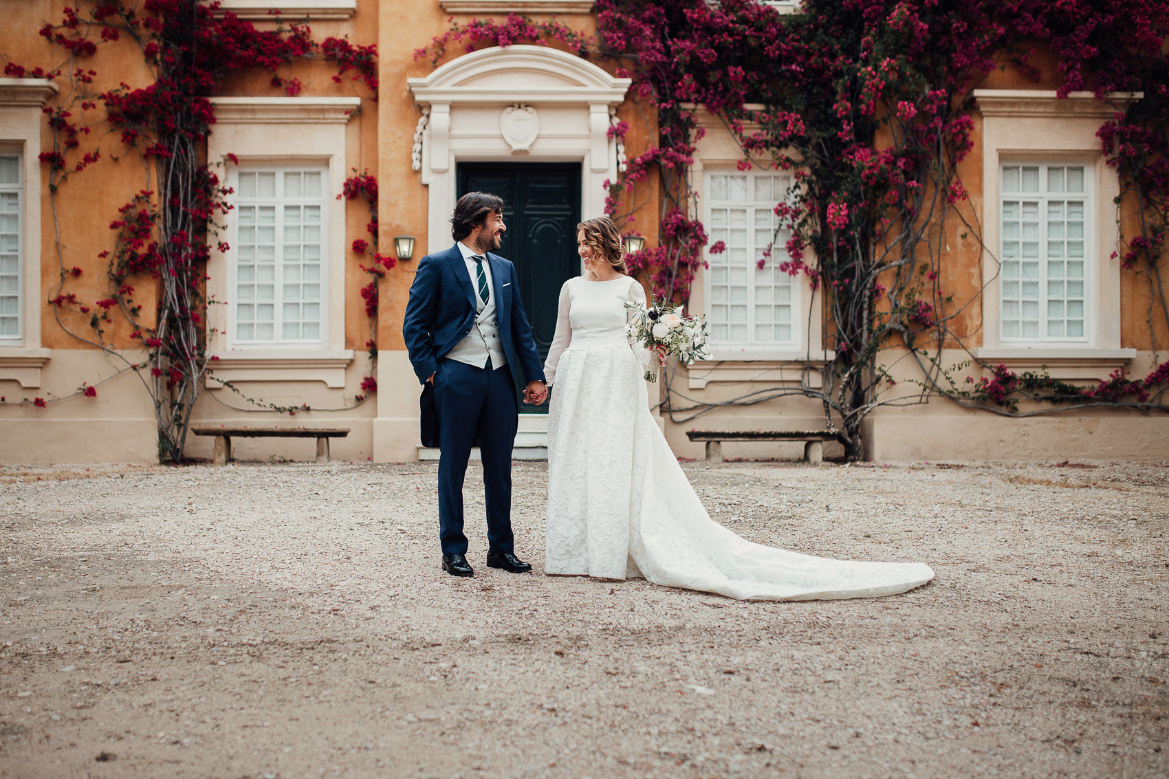
[[[516,381],[502,368],[438,360],[438,538],[443,554],[466,554],[463,535],[463,480],[471,442],[483,457],[487,506],[487,553],[514,552],[511,530],[511,455],[516,443]]]

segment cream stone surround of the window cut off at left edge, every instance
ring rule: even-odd
[[[57,94],[47,78],[0,78],[0,143],[19,149],[23,163],[23,225],[21,260],[25,273],[20,340],[0,342],[0,379],[23,388],[41,386],[41,368],[51,350],[41,347],[41,109]]]

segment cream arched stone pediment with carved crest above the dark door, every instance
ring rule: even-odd
[[[604,181],[617,177],[611,112],[629,78],[542,46],[465,54],[408,80],[422,108],[414,167],[429,186],[427,247],[450,243],[459,163],[579,163],[583,215],[604,213]]]

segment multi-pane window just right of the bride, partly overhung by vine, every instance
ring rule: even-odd
[[[793,277],[775,266],[786,256],[788,232],[779,230],[775,204],[790,179],[772,173],[711,173],[706,178],[707,320],[711,340],[721,344],[790,345],[796,336],[796,289]],[[760,268],[763,253],[772,257]]]

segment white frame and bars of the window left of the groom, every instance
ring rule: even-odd
[[[275,173],[277,194],[271,199],[265,198],[242,198],[240,195],[240,174],[241,173]],[[321,175],[321,194],[318,198],[288,198],[279,189],[284,182],[284,174],[286,173],[302,173],[302,172],[314,172]],[[328,192],[328,167],[327,165],[317,164],[281,164],[281,163],[267,163],[267,164],[250,164],[242,165],[240,167],[234,167],[228,177],[229,186],[235,191],[230,195],[231,205],[231,219],[230,229],[228,237],[228,278],[230,283],[230,297],[228,299],[228,344],[229,346],[238,346],[242,349],[303,349],[303,347],[321,347],[328,340],[328,206],[330,206],[330,192]],[[258,340],[258,339],[241,339],[238,337],[238,322],[237,322],[237,305],[241,303],[236,298],[238,285],[240,285],[240,268],[238,268],[238,234],[240,234],[240,207],[241,206],[275,206],[276,216],[274,229],[276,233],[275,244],[276,244],[276,258],[275,258],[275,280],[274,284],[274,299],[271,301],[274,310],[276,312],[275,319],[272,322],[274,339],[272,340]],[[320,313],[318,317],[319,333],[314,339],[285,339],[283,335],[284,322],[284,273],[285,273],[285,258],[284,258],[284,241],[282,241],[284,221],[282,219],[284,208],[286,206],[319,206],[321,213],[320,220],[320,297],[318,304],[320,305]],[[254,304],[258,303],[253,301]],[[302,320],[303,322],[303,320]]]

